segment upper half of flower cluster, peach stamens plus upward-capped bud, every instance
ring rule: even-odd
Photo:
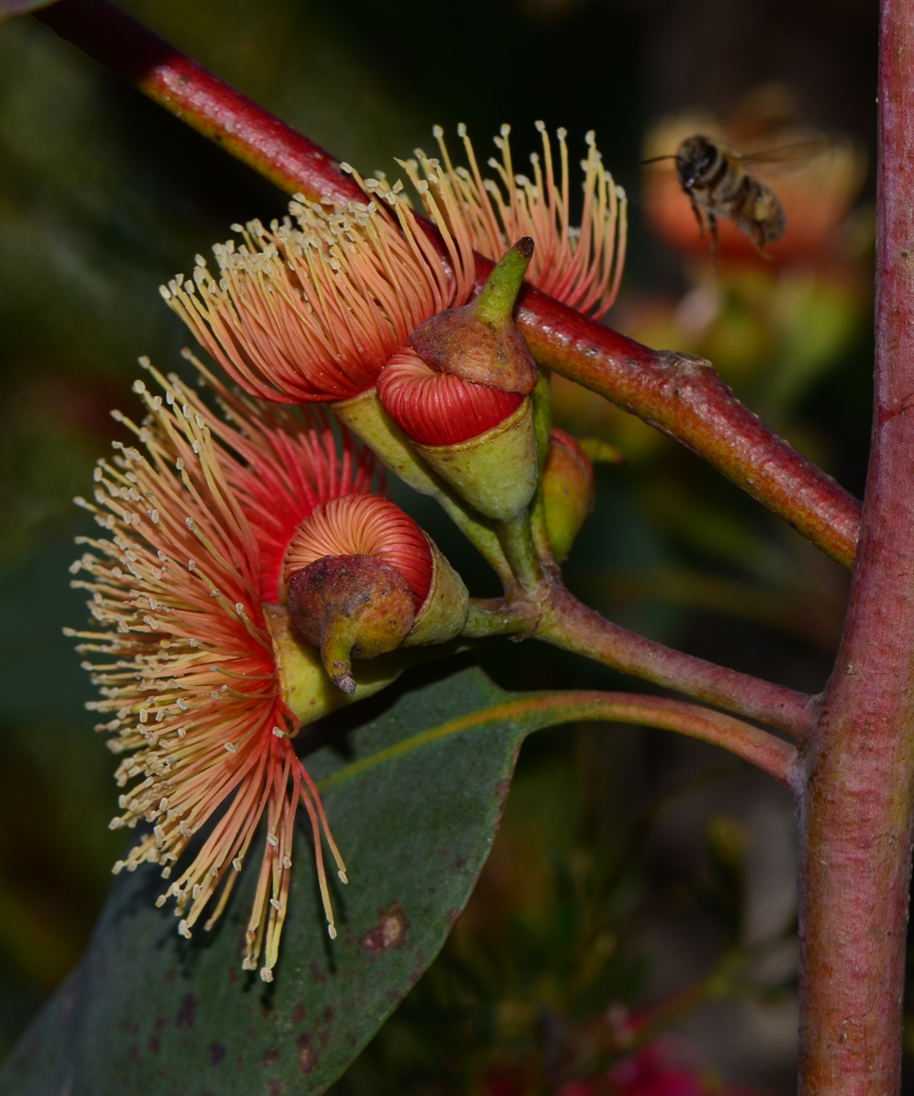
[[[399,182],[365,180],[344,164],[364,204],[297,195],[282,222],[235,226],[241,240],[214,248],[218,273],[197,256],[193,278],[162,288],[245,391],[329,402],[389,469],[438,498],[503,576],[517,575],[512,557],[529,541],[518,523],[548,444],[546,433],[537,459],[545,420],[533,406],[536,366],[512,318],[517,293],[526,276],[601,313],[615,299],[625,254],[625,195],[593,134],[579,230],[568,221],[567,171],[557,181],[545,126],[537,128],[542,153],[532,158],[533,180],[513,174],[509,128],[496,138],[506,199],[479,174],[462,127],[469,172],[454,168],[437,127],[439,159],[416,150],[400,161],[438,243]],[[565,163],[564,130],[558,139]],[[475,298],[473,249],[492,259],[504,252]]]

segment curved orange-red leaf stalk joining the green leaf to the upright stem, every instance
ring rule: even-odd
[[[793,784],[797,750],[789,742],[722,711],[686,700],[639,693],[553,693],[525,697],[523,703],[536,706],[542,727],[552,726],[556,720],[551,711],[561,708],[562,722],[567,719],[569,722],[638,723],[676,731],[728,750],[786,788]]]

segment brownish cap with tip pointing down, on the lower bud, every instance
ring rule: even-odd
[[[288,590],[289,617],[350,696],[356,690],[352,660],[392,651],[415,619],[409,583],[376,556],[324,556],[296,571]]]

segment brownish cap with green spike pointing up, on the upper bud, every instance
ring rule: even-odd
[[[533,252],[534,241],[525,236],[502,255],[473,300],[420,324],[410,336],[416,354],[461,380],[528,396],[536,363],[513,313]]]

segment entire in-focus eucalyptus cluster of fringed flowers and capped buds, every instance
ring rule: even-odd
[[[443,144],[444,167],[418,153],[423,179],[416,161],[404,164],[441,247],[402,186],[382,180],[359,180],[364,204],[299,195],[282,222],[235,226],[241,242],[214,248],[217,274],[197,256],[193,277],[178,275],[162,295],[242,392],[185,352],[221,404],[215,414],[141,359],[162,395],[137,381],[147,418],[116,418],[145,452],[115,443],[95,470],[94,503],[78,500],[111,536],[82,538],[90,550],[72,570],[87,574],[76,584],[92,595],[95,625],[71,633],[96,660],[87,667],[101,686],[99,728],[127,755],[118,784],[138,779],[111,824],[155,823],[115,871],[158,865],[169,881],[158,904],[173,900],[179,933],[208,931],[266,818],[242,960],[264,981],[288,910],[299,807],[331,938],[324,850],[347,881],[292,740],[393,681],[408,661],[399,649],[484,633],[467,625],[460,576],[384,496],[368,449],[442,500],[506,586],[541,578],[532,512],[548,534],[540,550],[548,556],[548,539],[561,559],[592,504],[586,455],[560,431],[550,447],[544,385],[513,320],[536,233],[535,283],[589,309],[615,295],[624,203],[589,145],[582,233],[567,224],[567,180],[559,194],[545,137],[548,179],[537,168],[501,225]],[[479,209],[492,215],[481,233]],[[473,297],[473,249],[495,258],[512,238]],[[331,404],[343,429],[277,407],[312,402]]]

